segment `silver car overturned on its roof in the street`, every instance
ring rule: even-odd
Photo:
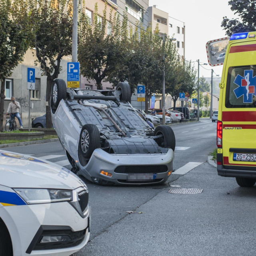
[[[175,136],[169,126],[154,130],[129,103],[130,86],[115,90],[66,88],[56,79],[52,124],[72,172],[102,185],[156,184],[172,172]]]

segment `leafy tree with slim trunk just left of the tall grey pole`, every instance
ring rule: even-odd
[[[46,128],[52,127],[50,96],[52,81],[58,78],[63,56],[72,52],[72,0],[32,0],[32,18],[36,36],[31,44],[35,48],[42,75],[47,76]]]

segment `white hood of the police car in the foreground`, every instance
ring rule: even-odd
[[[0,185],[72,190],[85,186],[78,176],[57,164],[3,150],[0,150]]]

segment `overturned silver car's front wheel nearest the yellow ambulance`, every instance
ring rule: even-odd
[[[161,138],[157,138],[155,141],[158,146],[163,148],[171,148],[175,150],[176,140],[175,135],[170,126],[160,125],[154,130],[154,136],[163,135]]]

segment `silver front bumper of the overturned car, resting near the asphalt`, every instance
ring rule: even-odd
[[[94,150],[88,164],[84,167],[80,166],[80,174],[96,183],[98,179],[102,179],[113,185],[156,184],[168,179],[168,172],[172,171],[173,160],[174,152],[172,149],[168,149],[166,154],[108,154],[98,148]],[[129,171],[129,173],[120,173],[116,169],[118,166],[134,167],[135,170]],[[165,171],[160,172],[160,168],[163,166],[165,166]],[[100,174],[101,170],[112,174],[112,176]],[[152,181],[130,182],[128,180],[129,174],[145,173],[156,173],[156,178]]]

